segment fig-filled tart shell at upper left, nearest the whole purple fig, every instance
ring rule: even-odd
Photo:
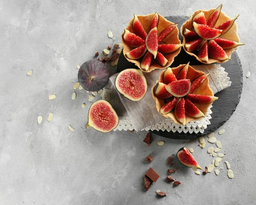
[[[122,41],[125,58],[144,72],[167,68],[183,46],[178,39],[177,24],[157,12],[146,16],[134,14]]]

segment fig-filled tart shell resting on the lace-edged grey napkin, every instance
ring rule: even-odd
[[[202,120],[209,106],[218,100],[209,87],[208,75],[189,63],[163,71],[152,88],[159,113],[182,125]]]

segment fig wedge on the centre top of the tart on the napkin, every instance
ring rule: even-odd
[[[189,79],[176,80],[165,86],[166,90],[175,97],[183,97],[187,95],[191,89]]]

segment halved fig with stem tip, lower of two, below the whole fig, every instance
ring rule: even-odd
[[[92,127],[101,132],[110,132],[117,127],[118,122],[116,111],[111,104],[106,100],[98,100],[90,106],[85,128]]]

